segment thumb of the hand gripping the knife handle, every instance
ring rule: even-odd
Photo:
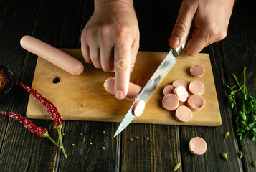
[[[191,28],[191,23],[196,14],[197,6],[189,4],[189,1],[183,1],[179,9],[179,14],[174,25],[174,29],[171,32],[171,38],[169,39],[169,45],[172,48],[180,47],[186,40]]]

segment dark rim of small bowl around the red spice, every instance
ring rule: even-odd
[[[0,95],[0,103],[1,103],[1,102],[5,102],[6,100],[9,100],[9,98],[11,98],[12,95],[14,95],[14,92],[16,90],[16,80],[15,80],[13,72],[10,70],[9,67],[6,67],[4,65],[0,65],[0,70],[5,70],[5,71],[9,72],[13,77],[13,80],[11,82],[11,87],[9,87],[9,90],[6,90],[2,94],[0,92],[0,94],[1,94]]]

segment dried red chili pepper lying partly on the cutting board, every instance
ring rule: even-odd
[[[39,92],[37,92],[37,90],[34,90],[32,87],[24,85],[23,83],[19,83],[19,85],[22,85],[24,89],[26,89],[35,99],[39,100],[39,102],[41,102],[42,105],[44,105],[44,108],[46,108],[47,112],[49,113],[54,122],[54,128],[56,128],[58,131],[60,145],[62,146],[62,152],[64,153],[64,156],[67,158],[67,154],[62,143],[62,116],[60,115],[56,106],[54,106],[52,102],[50,102],[46,98],[42,97],[42,95]]]

